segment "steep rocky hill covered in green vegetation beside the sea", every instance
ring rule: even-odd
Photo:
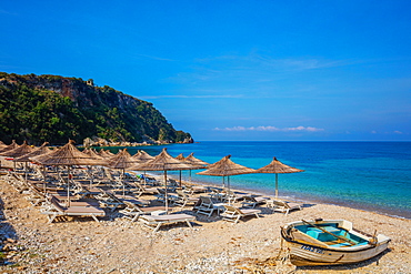
[[[40,144],[81,143],[86,138],[112,142],[183,142],[151,103],[110,87],[76,78],[0,72],[0,140]]]

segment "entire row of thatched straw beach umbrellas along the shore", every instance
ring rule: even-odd
[[[206,171],[199,172],[199,175],[211,175],[211,176],[222,176],[223,180],[231,175],[250,174],[250,173],[274,173],[275,174],[275,199],[278,199],[278,174],[279,173],[295,173],[302,172],[287,164],[281,163],[279,160],[273,158],[270,164],[253,170],[231,161],[231,155],[222,158],[220,161],[208,164],[193,156],[191,153],[189,156],[184,158],[180,154],[177,158],[171,156],[167,149],[164,148],[160,154],[157,156],[151,156],[144,151],[139,151],[134,155],[130,155],[127,149],[120,150],[117,154],[101,150],[97,153],[93,150],[86,149],[83,152],[79,151],[72,141],[69,141],[66,145],[60,149],[50,150],[48,143],[43,143],[39,148],[32,148],[24,142],[19,145],[14,141],[10,145],[6,145],[0,141],[0,156],[12,158],[16,162],[37,162],[42,165],[103,165],[112,169],[119,169],[122,171],[122,175],[126,170],[134,171],[163,171],[164,183],[167,184],[167,172],[168,171],[190,171],[191,181],[191,170],[206,169]],[[181,173],[180,173],[181,183]],[[167,187],[167,185],[166,185]],[[167,192],[166,192],[167,193]],[[167,199],[166,199],[167,201]]]

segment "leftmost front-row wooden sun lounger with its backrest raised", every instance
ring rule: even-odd
[[[97,206],[63,206],[54,196],[51,196],[50,205],[41,212],[41,214],[48,215],[49,223],[52,223],[58,216],[91,216],[99,222],[97,217],[106,215],[106,212]]]

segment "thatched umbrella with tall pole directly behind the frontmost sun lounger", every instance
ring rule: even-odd
[[[130,170],[137,171],[163,171],[166,186],[166,211],[168,211],[168,194],[167,194],[167,171],[190,170],[191,166],[174,159],[167,152],[167,148],[162,149],[161,153],[146,163],[131,166]]]

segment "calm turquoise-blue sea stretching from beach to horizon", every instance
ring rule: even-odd
[[[129,151],[133,154],[142,149],[157,155],[162,148]],[[411,142],[199,142],[167,148],[172,156],[194,152],[196,158],[209,163],[230,154],[233,162],[252,169],[269,164],[275,156],[305,170],[279,174],[280,196],[411,219]],[[196,175],[197,172],[192,172],[192,181],[222,184],[221,177]],[[182,174],[189,177],[188,171]],[[231,176],[230,184],[274,195],[274,180],[275,174],[245,174]]]

